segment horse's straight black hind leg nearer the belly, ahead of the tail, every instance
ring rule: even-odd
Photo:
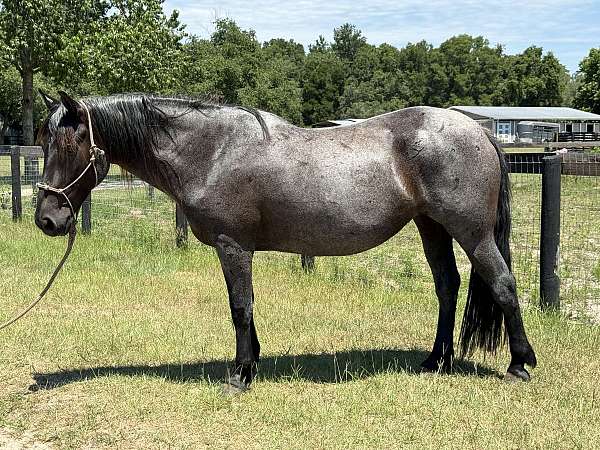
[[[442,225],[429,217],[417,216],[415,223],[421,234],[425,256],[433,273],[440,308],[433,350],[421,365],[426,370],[448,371],[454,359],[454,318],[460,287],[452,237]]]

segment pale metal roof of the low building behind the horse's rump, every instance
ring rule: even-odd
[[[451,106],[450,109],[496,120],[600,120],[600,115],[564,107]]]

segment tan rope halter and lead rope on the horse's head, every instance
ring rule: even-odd
[[[67,200],[69,209],[71,210],[71,214],[73,215],[73,223],[71,225],[71,228],[69,229],[69,240],[67,242],[67,249],[65,250],[65,254],[63,255],[62,259],[58,263],[58,266],[56,266],[56,269],[54,269],[54,272],[52,273],[52,276],[48,280],[48,283],[46,283],[46,286],[44,287],[44,289],[42,289],[42,292],[40,292],[40,295],[38,295],[38,298],[36,298],[27,308],[25,308],[23,311],[21,311],[21,313],[19,315],[13,317],[9,321],[4,322],[2,325],[0,325],[0,331],[5,329],[6,327],[12,325],[13,323],[15,323],[17,320],[19,320],[21,317],[23,317],[25,314],[27,314],[29,311],[31,311],[35,307],[35,305],[37,305],[40,301],[42,301],[42,299],[44,298],[44,296],[46,295],[46,293],[48,292],[48,290],[54,283],[54,279],[57,277],[58,273],[62,269],[62,266],[65,264],[65,262],[67,261],[67,258],[71,254],[71,250],[73,249],[73,244],[75,243],[75,236],[77,235],[77,227],[76,227],[77,215],[75,214],[75,210],[73,209],[71,200],[69,200],[69,197],[67,196],[65,191],[67,189],[69,189],[71,186],[73,186],[75,183],[77,183],[83,177],[83,175],[88,171],[90,166],[92,166],[94,168],[94,175],[96,176],[96,183],[94,184],[94,187],[96,187],[98,185],[98,172],[96,171],[96,164],[94,164],[94,162],[96,160],[96,151],[99,150],[99,148],[96,145],[96,143],[94,142],[94,131],[92,130],[92,118],[90,116],[90,111],[88,110],[85,103],[82,102],[81,104],[83,105],[83,108],[85,109],[85,112],[87,113],[87,118],[88,118],[88,130],[89,130],[89,134],[90,134],[90,162],[88,163],[86,168],[83,169],[83,172],[81,172],[81,174],[73,182],[69,183],[69,185],[64,188],[59,189],[59,188],[49,186],[47,184],[38,183],[38,188],[45,189],[47,191],[52,191],[57,194],[61,194]]]

